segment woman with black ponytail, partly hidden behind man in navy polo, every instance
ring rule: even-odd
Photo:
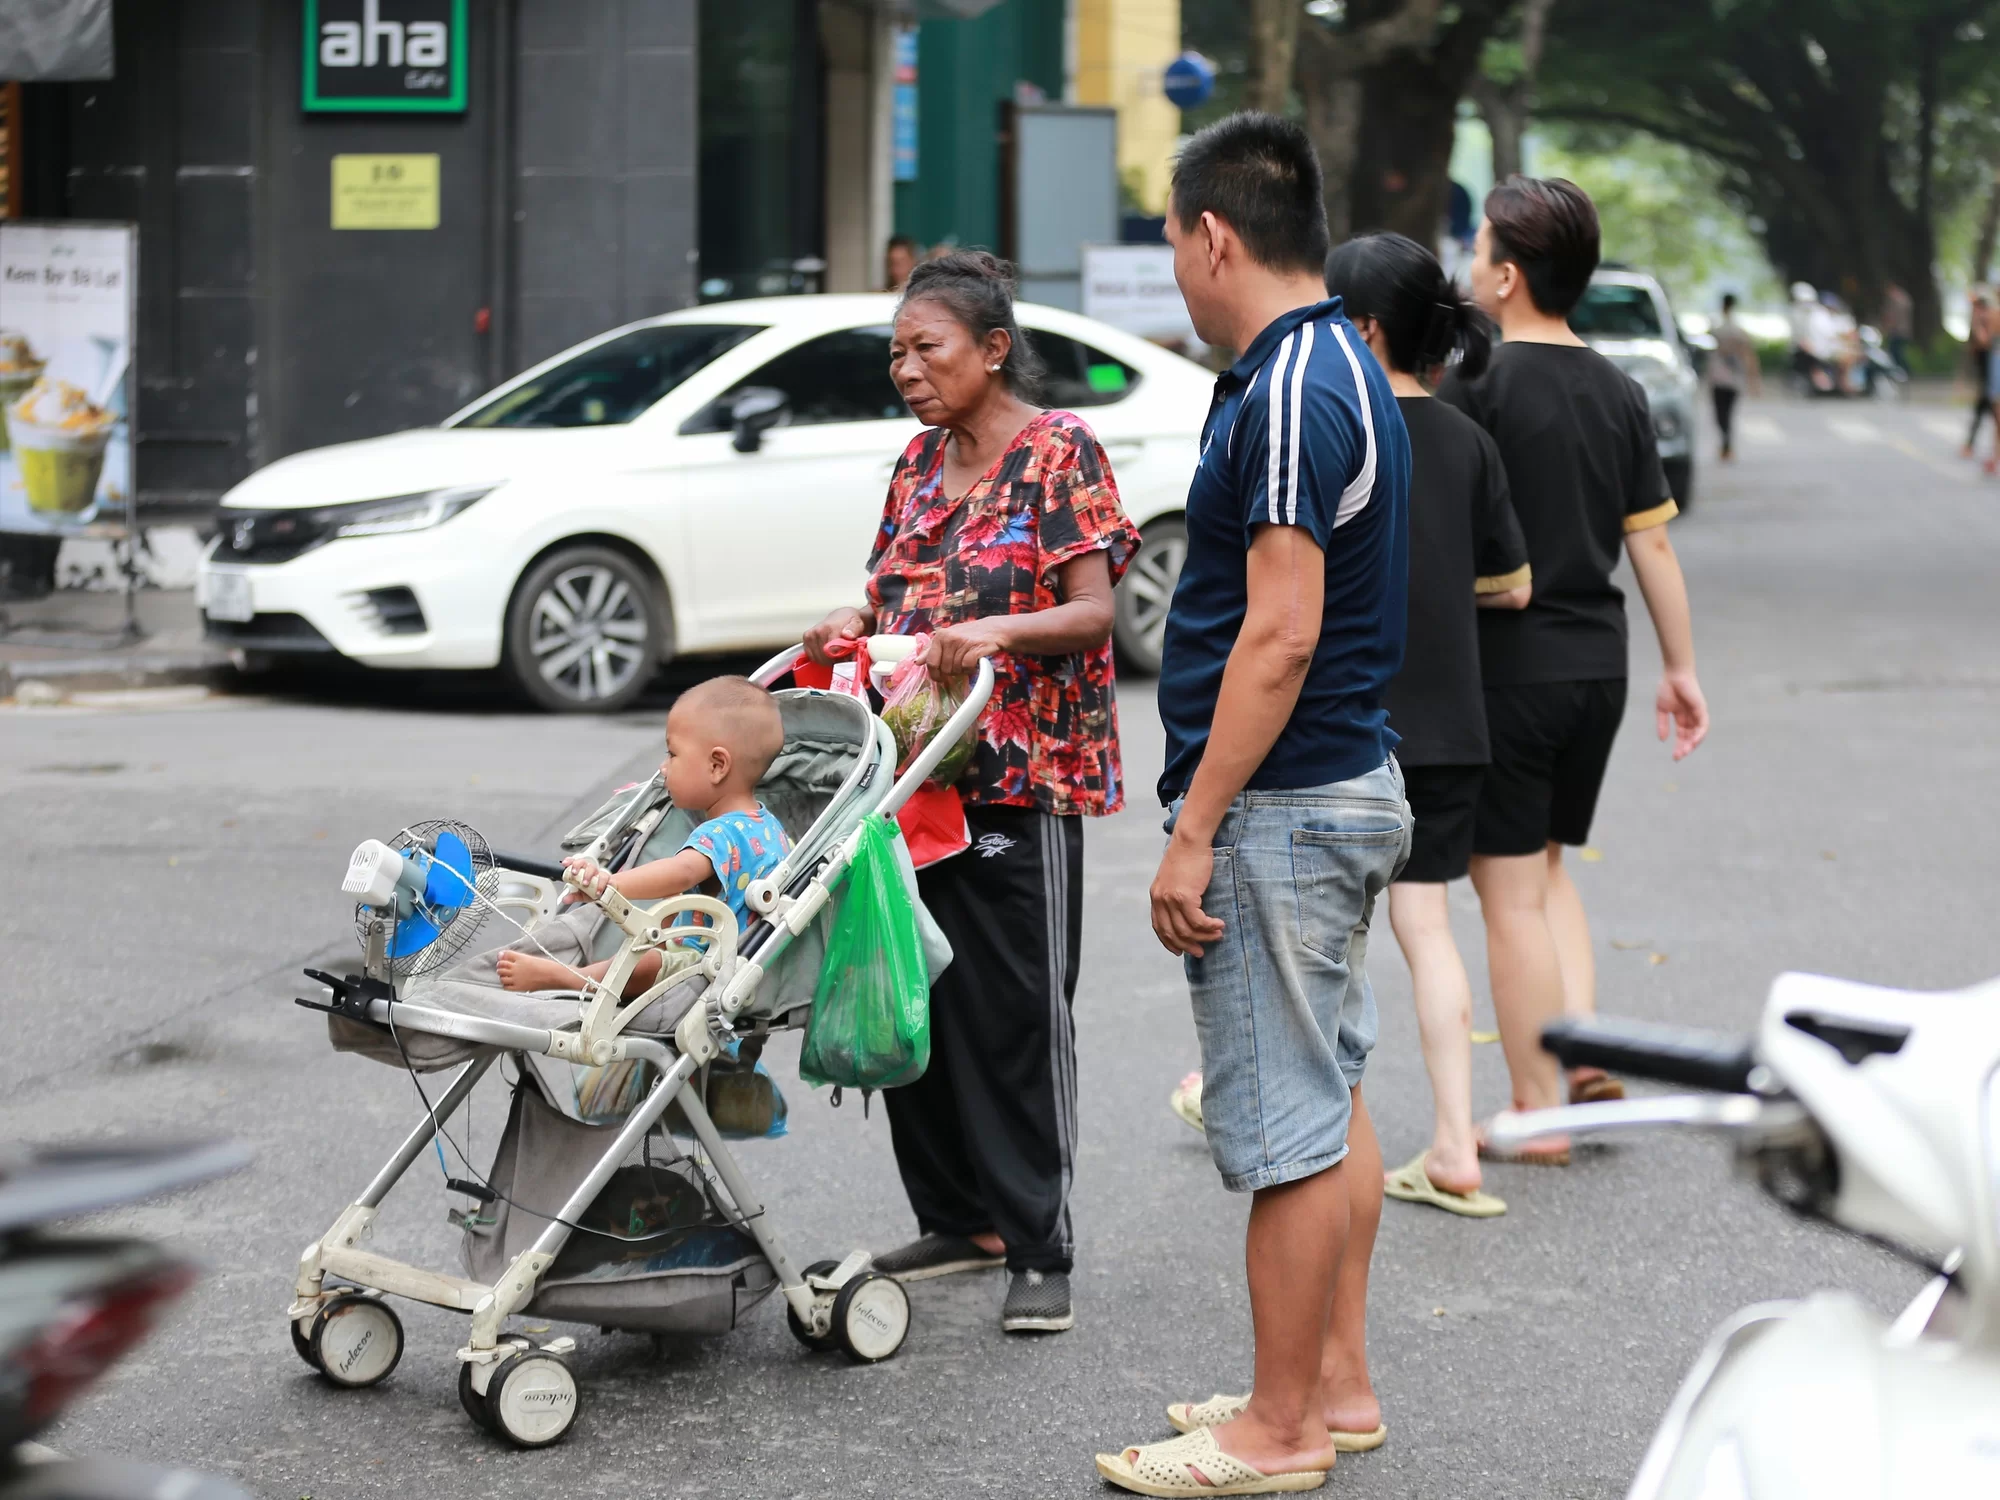
[[[1436,1100],[1430,1148],[1384,1192],[1454,1214],[1490,1218],[1506,1204],[1480,1192],[1472,1138],[1472,984],[1452,942],[1446,882],[1472,860],[1472,818],[1486,770],[1476,608],[1528,604],[1528,544],[1508,500],[1494,440],[1464,412],[1432,400],[1422,376],[1452,354],[1470,376],[1486,366],[1488,324],[1436,258],[1400,234],[1348,240],[1326,260],[1326,290],[1388,370],[1410,428],[1410,634],[1388,690],[1390,726],[1416,836],[1388,892],[1390,926],[1410,964],[1424,1066]]]

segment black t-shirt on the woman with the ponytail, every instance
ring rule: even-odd
[[[1528,544],[1508,504],[1500,448],[1428,396],[1398,396],[1410,428],[1410,634],[1388,686],[1404,766],[1484,766],[1476,594],[1528,582]],[[1492,614],[1492,610],[1488,610]]]

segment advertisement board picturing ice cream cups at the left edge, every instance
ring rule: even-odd
[[[0,222],[0,532],[124,522],[132,224]]]

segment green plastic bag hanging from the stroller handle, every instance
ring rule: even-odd
[[[894,1088],[930,1066],[930,970],[894,838],[880,814],[862,824],[798,1054],[808,1084]]]

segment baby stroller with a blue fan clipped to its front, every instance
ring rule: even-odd
[[[796,650],[782,652],[754,680],[770,686],[798,660]],[[456,1072],[426,1098],[424,1118],[388,1164],[302,1252],[286,1310],[300,1358],[336,1386],[372,1386],[404,1342],[384,1294],[468,1312],[460,1404],[478,1426],[538,1448],[576,1420],[580,1392],[564,1358],[576,1340],[510,1334],[514,1314],[604,1330],[726,1332],[776,1290],[800,1342],[862,1362],[892,1356],[910,1326],[902,1286],[868,1270],[864,1250],[794,1268],[724,1142],[728,1122],[716,1118],[724,1110],[712,1116],[714,1080],[744,1078],[772,1032],[806,1024],[826,946],[818,918],[844,884],[864,820],[892,814],[924,784],[990,692],[992,666],[982,662],[962,706],[898,778],[896,740],[864,700],[780,690],[784,750],[758,794],[794,844],[750,888],[758,916],[742,930],[726,904],[692,894],[636,906],[608,890],[558,914],[560,864],[494,854],[460,824],[404,830],[400,852],[362,844],[346,886],[364,892],[362,972],[306,970],[330,1000],[298,1004],[328,1012],[336,1048],[404,1066],[412,1078]],[[572,830],[564,850],[624,868],[672,852],[688,826],[656,774]],[[478,896],[462,894],[468,888]],[[682,912],[700,912],[710,926],[672,926]],[[536,934],[572,942],[554,956],[610,956],[610,974],[588,992],[516,994],[476,982],[478,956],[452,962],[496,926],[524,928],[526,918],[542,922]],[[936,978],[948,948],[920,904],[918,918]],[[622,1000],[646,952],[690,956]],[[364,1248],[390,1188],[506,1056],[518,1082],[488,1176],[446,1182],[472,1202],[452,1212],[466,1274]],[[578,1108],[580,1090],[566,1090],[580,1076],[600,1100],[618,1096],[608,1120],[602,1106]],[[606,1076],[618,1082],[606,1086]],[[680,1152],[668,1126],[690,1134],[696,1150]]]

